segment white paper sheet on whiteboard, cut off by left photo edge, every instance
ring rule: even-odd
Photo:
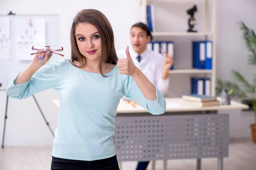
[[[0,59],[10,59],[10,19],[0,17]]]

